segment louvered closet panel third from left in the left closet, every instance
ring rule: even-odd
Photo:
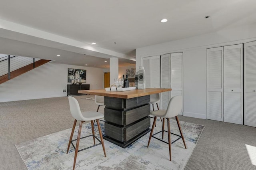
[[[170,88],[170,54],[161,55],[161,88]],[[161,93],[161,109],[167,109],[170,91]]]

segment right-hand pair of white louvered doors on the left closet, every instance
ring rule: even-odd
[[[161,93],[162,109],[167,109],[172,97],[183,96],[183,53],[161,55],[161,88],[172,89]]]

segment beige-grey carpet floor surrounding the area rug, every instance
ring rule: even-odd
[[[86,97],[76,96],[82,111],[96,111],[95,102]],[[256,170],[246,149],[256,147],[255,127],[186,116],[179,120],[205,126],[184,170]],[[0,103],[0,170],[26,170],[15,144],[71,128],[73,123],[68,97]]]

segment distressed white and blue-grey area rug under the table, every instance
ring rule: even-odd
[[[100,121],[102,132],[104,133],[104,122]],[[165,123],[166,124],[166,123]],[[170,121],[171,132],[179,134],[175,120]],[[102,150],[102,145],[98,145],[87,150],[78,152],[76,160],[77,170],[182,170],[192,154],[196,143],[204,129],[203,125],[182,122],[180,125],[185,137],[187,149],[184,148],[182,139],[174,142],[171,146],[172,161],[169,160],[168,144],[155,138],[151,139],[147,148],[149,134],[146,134],[127,148],[122,148],[104,140],[106,155]],[[161,130],[162,123],[156,122],[154,132]],[[94,125],[95,134],[98,136],[97,126]],[[167,129],[167,127],[166,127]],[[84,123],[81,136],[91,134],[90,123]],[[34,140],[16,144],[20,156],[29,170],[70,170],[73,167],[74,148],[70,146],[70,151],[66,154],[71,128],[42,136]],[[74,138],[78,133],[78,127],[74,132]],[[165,133],[165,139],[168,134]],[[171,136],[172,141],[176,139]],[[96,140],[97,141],[97,140]],[[75,142],[74,142],[75,144]],[[79,149],[93,144],[92,137],[80,140]]]

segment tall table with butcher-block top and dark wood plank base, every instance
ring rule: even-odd
[[[171,89],[147,88],[130,91],[79,90],[78,93],[104,96],[104,139],[126,148],[150,132],[150,94]]]

